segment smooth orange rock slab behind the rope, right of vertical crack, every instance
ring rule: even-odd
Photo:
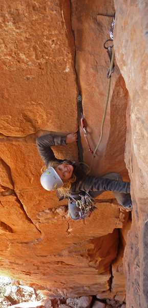
[[[107,14],[107,10],[110,13]],[[88,139],[93,150],[99,141],[107,96],[107,71],[110,60],[106,50],[103,48],[103,43],[110,38],[109,29],[112,17],[109,16],[112,14],[114,14],[112,1],[110,1],[108,9],[106,2],[102,2],[100,5],[100,2],[95,0],[93,4],[91,2],[87,3],[85,10],[83,10],[83,2],[77,5],[76,1],[72,1],[72,28],[75,33],[76,69],[78,83],[82,92],[83,113],[90,132]],[[98,46],[100,47],[99,49]],[[128,91],[116,66],[112,78],[109,107],[103,127],[103,137],[93,162],[92,171],[95,175],[107,174],[114,170],[121,172],[127,178],[124,164],[127,99]],[[82,132],[81,136],[84,159],[90,164],[92,156]],[[116,147],[113,144],[116,144]]]

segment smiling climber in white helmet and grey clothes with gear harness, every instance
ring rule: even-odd
[[[70,216],[75,220],[88,217],[96,208],[94,198],[105,190],[113,191],[119,205],[131,210],[130,183],[123,182],[119,174],[102,177],[87,175],[75,162],[54,156],[51,146],[66,145],[76,140],[76,132],[67,136],[47,134],[37,138],[37,148],[46,166],[40,177],[41,185],[46,190],[56,190],[60,200],[69,199]]]

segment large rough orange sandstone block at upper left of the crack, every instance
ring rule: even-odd
[[[1,16],[1,133],[77,130],[69,1],[27,0],[22,6],[4,0]]]

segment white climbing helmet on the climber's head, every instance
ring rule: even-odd
[[[40,183],[46,190],[55,190],[63,186],[61,178],[53,167],[49,167],[40,177]]]

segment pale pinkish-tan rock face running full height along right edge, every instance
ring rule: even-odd
[[[132,227],[124,254],[126,307],[147,307],[147,2],[115,1],[115,53],[129,91],[126,165],[132,183]],[[131,18],[132,16],[132,18]]]

